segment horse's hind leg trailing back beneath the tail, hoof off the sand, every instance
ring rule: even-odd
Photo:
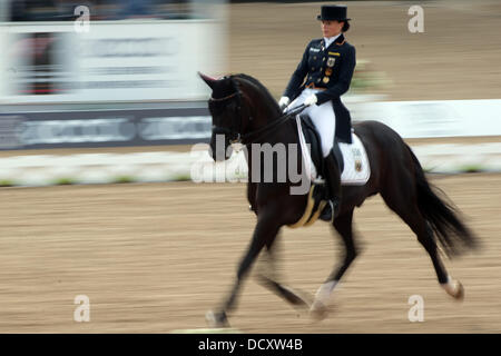
[[[393,188],[399,185],[394,185]],[[382,191],[381,195],[386,205],[395,211],[418,236],[418,240],[430,255],[440,285],[449,295],[456,299],[461,299],[464,295],[463,287],[459,281],[451,279],[448,275],[439,256],[436,243],[433,238],[433,230],[418,207],[415,194],[412,192],[409,187],[402,187],[400,194],[399,190],[393,190],[391,192]]]

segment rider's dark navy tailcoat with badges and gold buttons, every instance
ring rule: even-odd
[[[350,88],[355,65],[355,48],[345,41],[343,34],[327,48],[323,39],[313,40],[306,47],[284,93],[294,100],[306,87],[325,89],[316,93],[317,105],[332,100],[336,117],[335,137],[347,144],[352,142],[352,119],[341,96]]]

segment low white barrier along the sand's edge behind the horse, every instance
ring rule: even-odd
[[[430,172],[501,171],[501,142],[413,147]],[[215,164],[207,151],[35,155],[0,158],[0,186],[110,184],[127,181],[247,181],[243,152]]]

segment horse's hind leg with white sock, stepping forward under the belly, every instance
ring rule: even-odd
[[[346,269],[350,267],[350,265],[356,257],[355,243],[353,240],[352,222],[353,222],[353,209],[334,219],[333,225],[343,239],[345,247],[345,255],[341,265],[333,269],[328,278],[318,288],[315,295],[315,300],[313,301],[310,312],[312,316],[316,319],[321,319],[326,316],[327,310],[326,305],[328,303],[332,291],[334,290],[334,287],[341,280],[341,277],[344,275]]]

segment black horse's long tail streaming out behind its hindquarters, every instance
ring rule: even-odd
[[[461,222],[455,208],[445,200],[445,194],[428,181],[418,157],[409,146],[407,148],[414,162],[419,209],[430,224],[443,251],[451,257],[459,255],[464,248],[478,247],[475,236]]]

